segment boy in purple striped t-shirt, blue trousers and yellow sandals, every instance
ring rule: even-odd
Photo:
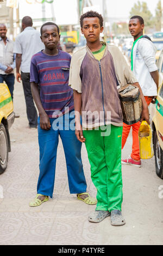
[[[70,193],[77,194],[77,199],[86,204],[96,204],[96,198],[86,192],[82,143],[76,138],[74,125],[71,126],[74,120],[73,90],[68,86],[71,56],[57,48],[60,34],[55,23],[42,25],[41,39],[45,50],[32,57],[30,66],[32,94],[39,111],[40,175],[37,195],[29,205],[38,206],[53,197],[59,136],[65,151]]]

